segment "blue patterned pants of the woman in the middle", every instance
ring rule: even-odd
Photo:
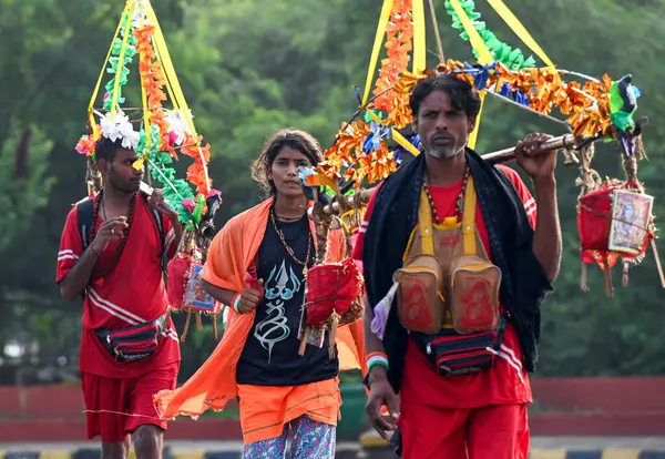
[[[291,459],[334,459],[336,427],[300,416],[284,426],[282,435],[269,440],[245,445],[243,459],[282,459],[286,457],[286,439],[294,432]]]

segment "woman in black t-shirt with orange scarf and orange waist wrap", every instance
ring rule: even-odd
[[[341,404],[339,370],[366,373],[362,323],[339,328],[337,356],[328,334],[300,347],[304,268],[315,263],[314,224],[298,167],[321,159],[310,134],[280,130],[266,144],[252,175],[269,198],[232,218],[215,236],[202,272],[204,289],[229,308],[222,341],[185,385],[155,396],[160,415],[196,418],[239,399],[244,458],[282,458],[293,431],[291,457],[334,458]],[[327,262],[348,254],[340,231],[330,232]]]

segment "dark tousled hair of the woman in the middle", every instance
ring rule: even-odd
[[[308,132],[297,129],[280,129],[270,135],[264,144],[258,157],[252,163],[252,178],[254,178],[267,196],[277,194],[275,183],[268,178],[268,173],[277,155],[285,146],[303,153],[316,166],[323,161],[321,145]]]

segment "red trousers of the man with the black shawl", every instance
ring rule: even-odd
[[[403,459],[526,459],[526,405],[446,409],[401,402]]]

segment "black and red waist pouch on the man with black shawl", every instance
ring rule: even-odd
[[[441,329],[437,335],[413,334],[413,338],[439,376],[467,375],[494,366],[503,334],[505,317],[487,332],[458,334],[454,329]]]

